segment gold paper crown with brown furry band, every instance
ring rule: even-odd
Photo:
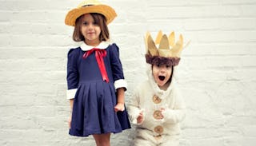
[[[146,33],[146,62],[152,65],[178,65],[183,49],[183,37],[180,34],[175,42],[174,32],[169,37],[160,30],[153,41],[149,32]],[[158,48],[157,48],[158,45]]]

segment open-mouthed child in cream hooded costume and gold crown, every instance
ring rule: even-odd
[[[147,34],[146,48],[146,62],[150,64],[148,80],[138,85],[127,108],[130,120],[137,125],[134,145],[178,146],[179,123],[186,110],[174,80],[182,36],[174,44],[174,33],[168,39],[160,31],[155,42]]]

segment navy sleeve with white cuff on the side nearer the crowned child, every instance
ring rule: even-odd
[[[124,75],[122,71],[122,63],[119,58],[119,48],[118,45],[113,44],[113,48],[110,50],[110,63],[111,63],[111,69],[113,73],[113,79],[114,79],[114,88],[125,88],[127,89],[127,83],[124,80]]]

